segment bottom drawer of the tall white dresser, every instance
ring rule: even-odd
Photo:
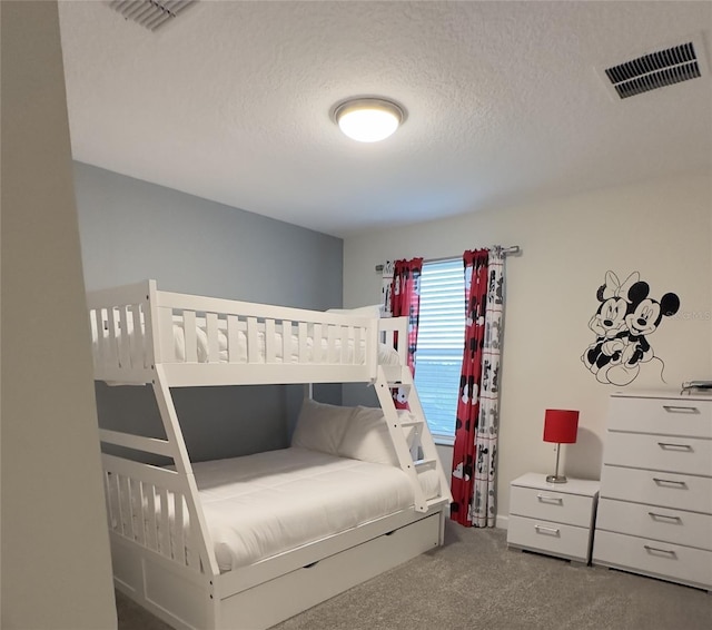
[[[593,563],[712,588],[712,551],[596,531]]]

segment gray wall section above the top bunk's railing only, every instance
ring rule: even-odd
[[[87,289],[158,288],[304,308],[342,304],[340,238],[75,163]]]

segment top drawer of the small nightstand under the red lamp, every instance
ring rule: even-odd
[[[591,525],[593,501],[593,496],[537,488],[512,485],[510,490],[510,512],[512,514],[582,528]]]

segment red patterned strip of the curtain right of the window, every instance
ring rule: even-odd
[[[479,416],[485,313],[487,307],[487,249],[465,252],[465,347],[459,377],[459,396],[453,449],[453,504],[451,519],[471,526],[473,484],[476,462],[476,434]]]

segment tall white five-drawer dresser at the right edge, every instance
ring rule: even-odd
[[[611,396],[593,563],[712,589],[712,397]]]

